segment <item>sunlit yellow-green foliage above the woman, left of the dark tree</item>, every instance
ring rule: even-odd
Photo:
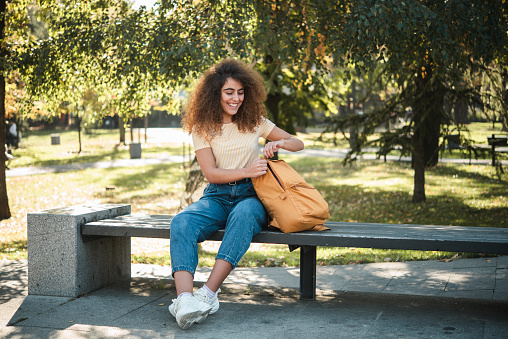
[[[178,106],[172,99],[179,88],[227,56],[275,67],[265,74],[269,94],[282,96],[270,109],[281,127],[306,124],[313,108],[326,107],[319,69],[312,69],[324,63],[313,6],[161,1],[156,10],[134,11],[125,1],[73,4],[41,2],[50,38],[17,49],[29,93],[50,112],[86,90],[127,119],[142,116],[152,98]]]

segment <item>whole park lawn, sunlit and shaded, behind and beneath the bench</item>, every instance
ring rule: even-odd
[[[129,157],[128,149],[117,145],[118,131],[99,130],[85,136],[84,151],[79,156],[75,153],[79,147],[77,132],[60,132],[60,146],[49,145],[51,133],[33,132],[23,141],[23,147],[14,151],[17,159],[13,165]],[[316,134],[300,135],[307,148],[320,147],[313,144]],[[183,152],[178,142],[152,142],[143,146],[143,157]],[[490,166],[439,164],[426,171],[427,202],[413,204],[413,170],[408,164],[363,161],[344,167],[341,159],[296,155],[284,159],[321,191],[329,202],[333,221],[508,227],[508,174],[499,177]],[[8,178],[13,216],[0,222],[0,259],[26,258],[28,212],[96,202],[131,204],[133,213],[174,214],[180,205],[185,178],[181,163]],[[106,191],[110,185],[116,189]],[[205,242],[200,247],[200,265],[213,265],[217,244]],[[132,259],[138,263],[166,265],[170,263],[168,250],[166,239],[133,239]],[[477,256],[363,248],[319,248],[317,255],[323,265]],[[298,262],[298,250],[290,253],[284,245],[253,244],[239,266],[295,266]]]

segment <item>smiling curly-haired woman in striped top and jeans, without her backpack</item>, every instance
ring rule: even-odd
[[[208,185],[202,198],[171,222],[171,265],[177,299],[169,306],[187,329],[217,312],[220,286],[268,223],[250,178],[262,176],[267,162],[259,156],[259,138],[268,139],[265,158],[279,149],[300,151],[303,142],[266,118],[263,79],[245,63],[226,59],[204,73],[183,118],[192,134],[199,166]],[[205,285],[193,293],[197,244],[225,229],[215,265]]]

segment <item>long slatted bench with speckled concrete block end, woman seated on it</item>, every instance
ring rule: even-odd
[[[131,237],[169,238],[172,216],[129,205],[79,205],[28,215],[28,293],[76,297],[131,275]],[[327,222],[323,232],[262,231],[254,243],[301,247],[300,298],[315,299],[316,247],[508,254],[508,229]],[[220,241],[223,231],[209,240]]]

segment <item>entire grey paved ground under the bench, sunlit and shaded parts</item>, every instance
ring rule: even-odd
[[[77,299],[27,296],[26,261],[0,261],[1,338],[507,338],[508,256],[319,266],[316,301],[298,268],[239,268],[221,308],[181,330],[167,307],[170,268]],[[196,286],[210,269],[200,268]]]

